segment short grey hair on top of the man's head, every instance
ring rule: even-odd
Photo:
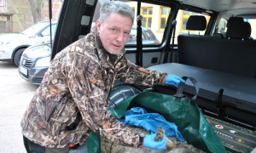
[[[131,9],[131,7],[123,2],[120,1],[111,1],[108,3],[103,3],[101,9],[100,9],[100,17],[99,20],[104,23],[106,20],[108,20],[108,17],[112,13],[122,14],[125,16],[128,16],[131,18],[132,22],[134,19],[134,13]]]

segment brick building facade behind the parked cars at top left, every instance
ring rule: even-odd
[[[49,0],[40,3],[41,21],[49,20]],[[52,0],[53,21],[57,20],[62,0]],[[28,0],[0,0],[0,33],[20,32],[34,25]]]

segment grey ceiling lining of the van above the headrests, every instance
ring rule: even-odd
[[[228,16],[256,14],[256,0],[177,0],[180,3],[217,11]]]

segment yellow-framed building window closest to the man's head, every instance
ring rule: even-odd
[[[152,14],[153,8],[142,8],[143,23],[142,26],[145,28],[151,28],[152,25]]]

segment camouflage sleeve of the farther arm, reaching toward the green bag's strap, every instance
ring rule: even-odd
[[[125,57],[119,61],[116,69],[118,70],[117,79],[122,82],[152,87],[157,84],[164,85],[166,81],[166,73],[149,71],[141,66],[132,64]]]

